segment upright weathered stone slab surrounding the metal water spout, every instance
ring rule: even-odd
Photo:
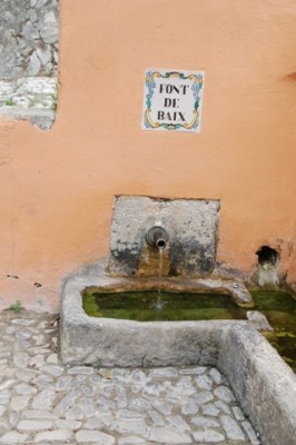
[[[128,224],[122,225],[122,220]],[[209,274],[216,260],[218,224],[218,200],[116,197],[109,268],[127,275],[141,268],[144,275],[157,275],[151,270],[151,259],[158,251],[147,244],[146,234],[151,227],[161,226],[168,235],[169,257],[162,275]],[[149,260],[140,264],[145,256]]]

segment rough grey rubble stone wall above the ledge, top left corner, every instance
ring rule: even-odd
[[[39,3],[32,1],[33,9],[29,8],[28,1],[0,2],[0,78],[56,75],[53,49],[58,44],[58,3],[56,0],[41,2],[40,7],[40,0]],[[48,51],[48,56],[40,57],[40,50]],[[47,67],[49,61],[50,69]]]

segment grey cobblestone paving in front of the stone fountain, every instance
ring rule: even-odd
[[[0,314],[0,444],[260,444],[216,368],[63,367],[58,328]]]

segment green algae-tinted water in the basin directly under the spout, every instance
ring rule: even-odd
[[[86,291],[85,312],[92,317],[157,320],[244,319],[245,310],[227,295],[172,294],[157,290],[100,294]]]

